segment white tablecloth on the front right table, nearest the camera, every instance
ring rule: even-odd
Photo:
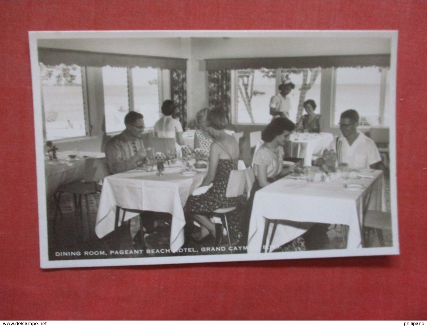
[[[361,225],[366,208],[385,210],[383,173],[371,170],[365,172],[373,177],[343,180],[336,178],[329,182],[307,182],[284,178],[258,190],[255,194],[249,224],[248,252],[260,252],[264,216],[295,222],[318,222],[345,224],[349,226],[347,248],[360,247]],[[344,184],[363,184],[363,190],[348,190]],[[370,196],[369,196],[370,194]],[[272,224],[270,224],[272,228]],[[287,243],[306,231],[305,228],[279,224],[273,238],[272,249]],[[269,235],[266,245],[269,244]]]

